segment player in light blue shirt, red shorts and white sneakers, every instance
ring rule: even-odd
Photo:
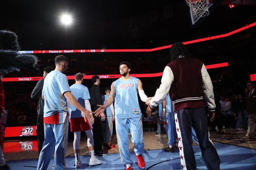
[[[83,84],[83,74],[77,73],[75,75],[76,83],[70,86],[71,93],[75,96],[77,101],[85,107],[87,110],[91,111],[91,105],[89,100],[91,99],[89,90]],[[90,152],[90,161],[89,165],[98,165],[102,164],[102,162],[94,156],[94,141],[93,141],[93,132],[92,132],[92,124],[94,122],[84,121],[84,116],[81,115],[81,111],[77,110],[71,103],[68,102],[68,108],[70,113],[70,131],[74,132],[74,152],[75,152],[75,166],[79,168],[82,165],[82,162],[79,157],[80,152],[80,138],[81,138],[81,130],[85,131],[87,135],[87,146]]]

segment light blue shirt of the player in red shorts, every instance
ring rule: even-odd
[[[75,96],[77,101],[85,108],[84,100],[90,100],[90,93],[87,87],[84,85],[71,85],[70,86],[71,93]],[[77,117],[84,117],[81,115],[81,111],[76,109],[70,102],[69,102],[69,114],[70,118],[77,118]]]

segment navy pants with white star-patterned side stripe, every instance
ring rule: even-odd
[[[207,127],[205,108],[185,108],[174,113],[179,139],[180,162],[185,169],[196,169],[196,159],[190,142],[191,127],[196,131],[205,165],[209,170],[219,170],[220,157],[213,146]]]

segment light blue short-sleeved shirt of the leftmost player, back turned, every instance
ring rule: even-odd
[[[67,99],[63,95],[67,91],[70,91],[70,88],[68,78],[65,74],[58,70],[51,71],[47,74],[44,78],[42,91],[42,95],[44,96],[44,117],[55,115],[58,112],[60,113],[60,117],[62,117],[63,112],[68,112]]]

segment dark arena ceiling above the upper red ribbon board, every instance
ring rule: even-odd
[[[4,1],[0,29],[16,32],[22,50],[155,48],[251,24],[255,7],[218,5],[193,28],[185,0]],[[73,16],[72,25],[60,23],[62,13]]]

